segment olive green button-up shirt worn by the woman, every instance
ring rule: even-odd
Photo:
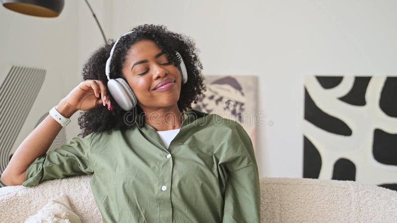
[[[30,187],[92,174],[105,223],[259,223],[260,186],[252,142],[238,123],[190,110],[167,149],[147,123],[74,137],[38,157]]]

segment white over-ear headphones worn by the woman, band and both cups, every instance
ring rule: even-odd
[[[126,36],[132,32],[128,32],[123,36]],[[131,111],[132,108],[136,106],[138,101],[136,100],[135,94],[133,93],[130,85],[123,78],[110,79],[110,61],[112,60],[113,52],[120,38],[116,41],[112,50],[110,51],[110,56],[106,61],[105,72],[106,76],[108,77],[108,89],[110,94],[124,111]],[[178,52],[176,52],[176,54],[181,58],[181,63],[178,65],[178,69],[179,73],[181,74],[181,83],[185,84],[188,81],[188,72],[186,70],[182,56]]]

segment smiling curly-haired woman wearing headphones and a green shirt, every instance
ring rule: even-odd
[[[3,181],[30,187],[93,174],[104,222],[260,222],[248,134],[191,108],[205,90],[201,69],[191,39],[164,26],[132,29],[91,56],[84,81],[19,146]],[[78,110],[81,137],[46,154]]]

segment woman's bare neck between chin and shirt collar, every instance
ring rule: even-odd
[[[142,107],[141,107],[142,108]],[[184,120],[178,105],[162,108],[142,108],[145,112],[145,122],[156,131],[167,131],[181,127]]]

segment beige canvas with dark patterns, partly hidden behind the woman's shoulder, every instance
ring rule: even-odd
[[[216,113],[238,121],[250,135],[256,148],[257,83],[256,76],[204,76],[205,97],[192,108]]]

